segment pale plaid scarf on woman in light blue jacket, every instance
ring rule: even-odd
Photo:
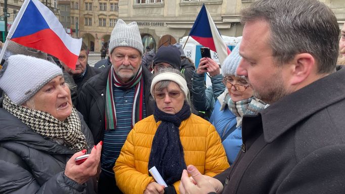
[[[225,96],[225,102],[229,110],[236,116],[237,127],[242,124],[243,115],[254,115],[265,108],[265,103],[255,98],[244,99],[242,101],[234,102],[230,98],[230,94]]]

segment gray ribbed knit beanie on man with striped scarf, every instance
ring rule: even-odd
[[[119,46],[132,47],[137,49],[141,55],[144,52],[143,42],[141,40],[137,22],[126,24],[123,20],[119,19],[111,32],[109,51]]]

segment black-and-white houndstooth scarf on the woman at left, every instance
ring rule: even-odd
[[[62,139],[74,152],[89,149],[87,139],[81,132],[79,116],[74,108],[72,114],[61,122],[49,113],[14,104],[6,94],[3,107],[43,137],[51,140]]]

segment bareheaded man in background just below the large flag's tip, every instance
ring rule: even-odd
[[[64,70],[69,73],[77,85],[77,93],[80,92],[81,86],[87,82],[91,77],[102,72],[102,70],[91,67],[88,64],[89,49],[88,46],[82,42],[79,57],[75,64],[75,70],[72,70],[63,62],[60,61]]]

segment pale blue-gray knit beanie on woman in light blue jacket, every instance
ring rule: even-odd
[[[241,42],[237,43],[235,48],[231,51],[230,55],[225,59],[222,65],[223,77],[227,77],[231,75],[238,76],[236,74],[236,70],[242,60],[242,57],[239,54],[240,43]]]

